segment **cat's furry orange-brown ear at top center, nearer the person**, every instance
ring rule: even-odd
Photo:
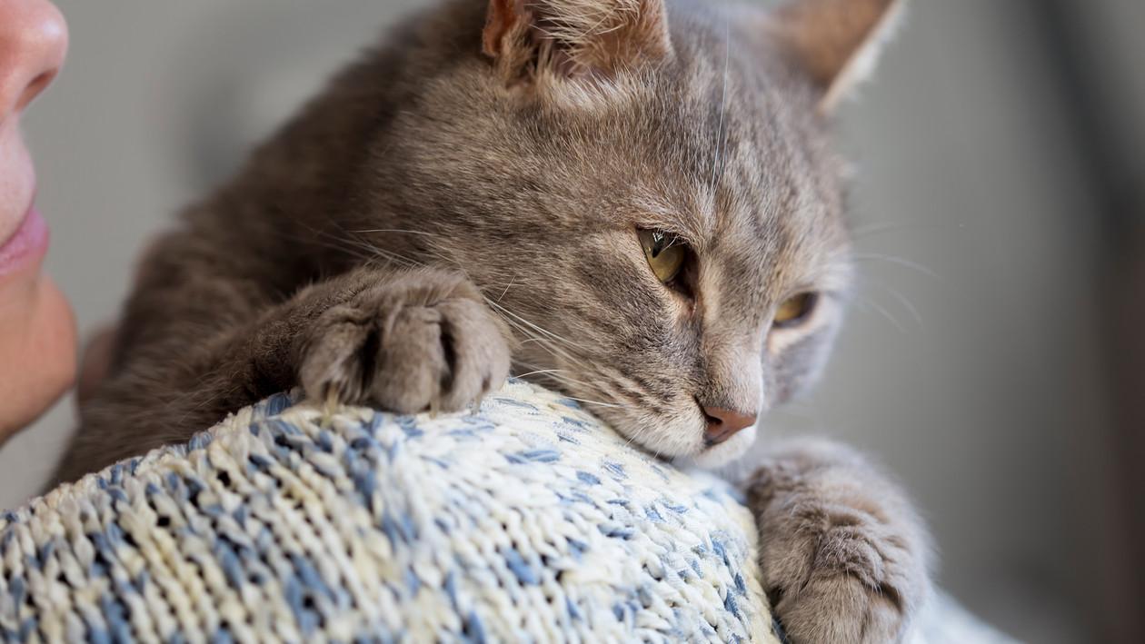
[[[484,53],[506,81],[599,81],[672,56],[664,0],[490,0]]]

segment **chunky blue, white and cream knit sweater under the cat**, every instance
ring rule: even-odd
[[[0,641],[777,644],[755,533],[526,383],[436,419],[275,396],[0,516]]]

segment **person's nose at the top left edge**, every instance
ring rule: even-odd
[[[52,84],[68,53],[68,25],[46,0],[0,0],[0,122]]]

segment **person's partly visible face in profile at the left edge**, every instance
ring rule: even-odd
[[[0,442],[32,422],[76,375],[76,326],[40,273],[48,229],[33,206],[35,170],[19,119],[68,50],[63,16],[47,0],[0,0]]]

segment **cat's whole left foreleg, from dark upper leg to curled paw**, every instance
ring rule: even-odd
[[[505,380],[506,337],[458,272],[355,269],[208,337],[135,349],[82,410],[56,480],[184,442],[298,384],[321,400],[460,410]]]

